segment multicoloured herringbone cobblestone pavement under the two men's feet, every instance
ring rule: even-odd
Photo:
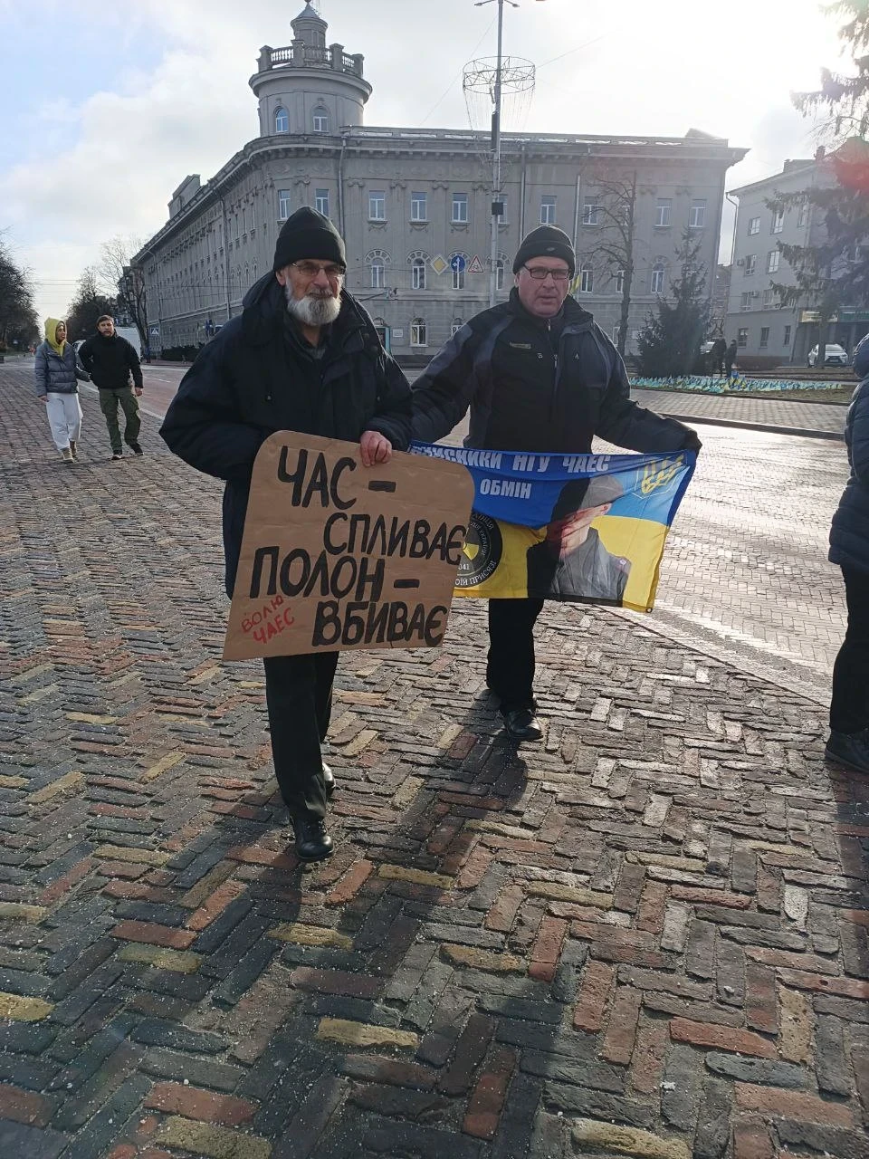
[[[0,1154],[869,1157],[869,786],[816,704],[561,607],[517,752],[460,602],[342,658],[302,872],[219,487],[151,421],[46,436],[0,377]]]

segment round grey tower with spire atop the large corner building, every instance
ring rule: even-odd
[[[293,42],[264,45],[250,87],[260,102],[260,136],[338,134],[359,126],[371,85],[363,78],[362,53],[326,43],[328,24],[312,7],[291,22]]]

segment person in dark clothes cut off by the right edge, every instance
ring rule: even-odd
[[[830,559],[842,569],[848,627],[833,665],[826,756],[869,773],[869,337],[854,351],[862,381],[845,421],[850,478],[830,529]]]

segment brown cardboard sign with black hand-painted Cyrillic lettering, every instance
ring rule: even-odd
[[[430,648],[446,632],[474,483],[459,464],[278,431],[256,457],[225,659]]]

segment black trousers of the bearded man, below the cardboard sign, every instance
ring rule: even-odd
[[[329,729],[337,663],[337,653],[263,659],[275,775],[291,817],[326,816],[320,743]]]

